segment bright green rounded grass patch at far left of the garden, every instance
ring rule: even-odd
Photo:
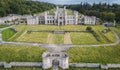
[[[2,31],[2,39],[3,39],[4,41],[8,41],[8,39],[9,39],[10,37],[12,37],[14,34],[15,34],[15,31],[13,31],[13,30],[10,29],[10,28],[8,28],[8,29],[6,29],[6,30],[3,30],[3,31]]]

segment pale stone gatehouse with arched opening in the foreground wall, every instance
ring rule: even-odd
[[[59,66],[62,69],[68,69],[69,68],[69,62],[68,62],[69,56],[66,52],[44,52],[42,55],[42,68],[48,69],[52,66]]]

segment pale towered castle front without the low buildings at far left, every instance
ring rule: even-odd
[[[82,15],[83,16],[83,15]],[[49,11],[43,15],[37,15],[27,19],[27,24],[54,24],[54,25],[77,25],[77,24],[95,24],[96,17],[79,16],[77,11],[68,14],[66,7],[57,7],[52,14]]]

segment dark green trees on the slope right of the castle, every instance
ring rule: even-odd
[[[120,5],[118,4],[107,4],[99,3],[92,5],[89,3],[81,3],[76,5],[66,5],[69,9],[77,10],[82,14],[89,16],[96,16],[105,21],[113,22],[116,20],[120,22]]]

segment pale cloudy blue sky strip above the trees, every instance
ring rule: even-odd
[[[88,3],[118,3],[120,4],[120,0],[38,0],[42,2],[49,2],[49,3],[54,3],[54,4],[79,4],[81,2],[88,2]]]

